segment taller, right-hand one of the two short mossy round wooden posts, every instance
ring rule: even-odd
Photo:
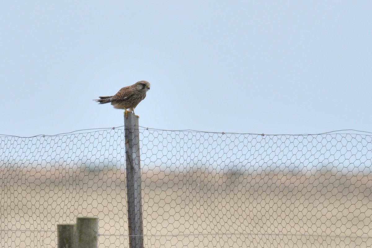
[[[74,248],[97,248],[98,218],[77,217]]]

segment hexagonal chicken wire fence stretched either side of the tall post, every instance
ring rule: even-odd
[[[145,247],[371,247],[372,136],[140,127]],[[0,136],[0,247],[99,218],[128,247],[124,128]]]

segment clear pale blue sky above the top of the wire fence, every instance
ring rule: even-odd
[[[372,131],[371,1],[1,1],[0,133]]]

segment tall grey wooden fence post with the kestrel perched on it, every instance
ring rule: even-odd
[[[126,186],[128,193],[129,247],[143,248],[140,131],[138,117],[132,112],[124,115]]]

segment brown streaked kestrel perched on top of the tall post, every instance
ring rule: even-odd
[[[100,96],[96,99],[99,104],[111,103],[115,109],[124,109],[124,116],[128,117],[128,110],[134,113],[137,107],[146,97],[146,92],[150,90],[150,83],[147,81],[138,81],[137,83],[121,88],[115,96]]]

